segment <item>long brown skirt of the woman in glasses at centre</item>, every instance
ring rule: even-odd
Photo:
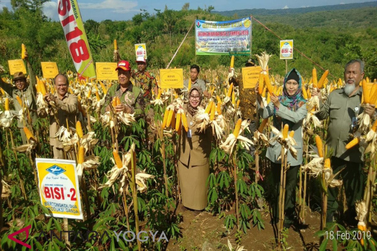
[[[193,210],[203,210],[207,206],[207,178],[210,173],[209,163],[202,166],[185,166],[178,161],[179,183],[182,204]]]

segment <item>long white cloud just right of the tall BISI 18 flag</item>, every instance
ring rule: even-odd
[[[115,13],[138,11],[135,8],[138,2],[129,0],[104,0],[101,3],[80,3],[81,9],[112,9]]]

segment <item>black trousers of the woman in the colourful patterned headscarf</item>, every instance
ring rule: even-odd
[[[284,213],[285,224],[293,224],[295,216],[296,205],[296,185],[297,185],[297,173],[300,166],[291,166],[287,170],[287,176],[285,181],[285,202]],[[271,191],[271,208],[273,220],[277,222],[279,220],[279,193],[280,193],[280,170],[281,164],[276,164],[271,161],[271,174],[272,174],[272,191]]]

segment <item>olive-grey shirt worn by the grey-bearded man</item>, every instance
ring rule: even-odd
[[[326,144],[328,149],[333,148],[333,156],[342,160],[360,163],[363,161],[364,149],[356,145],[346,150],[346,145],[352,140],[352,117],[362,113],[361,97],[363,90],[360,87],[351,97],[348,97],[343,88],[332,91],[326,101],[320,103],[320,111],[316,114],[319,119],[329,117]],[[358,112],[355,114],[355,107]]]

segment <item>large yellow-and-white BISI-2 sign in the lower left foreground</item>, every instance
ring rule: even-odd
[[[46,216],[83,219],[76,162],[36,158],[41,204],[48,208]]]

